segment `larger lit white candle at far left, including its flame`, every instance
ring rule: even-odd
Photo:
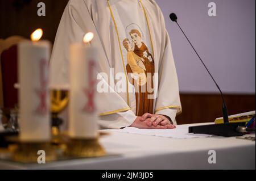
[[[32,35],[34,41],[18,46],[20,140],[48,141],[51,138],[49,114],[48,61],[51,44],[38,41],[42,30]]]

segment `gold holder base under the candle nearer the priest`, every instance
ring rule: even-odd
[[[102,148],[97,138],[71,138],[64,154],[82,158],[103,157],[106,155],[104,148]]]

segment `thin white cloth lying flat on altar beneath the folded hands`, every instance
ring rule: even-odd
[[[126,127],[123,129],[108,129],[112,132],[123,132],[130,134],[141,134],[147,136],[170,137],[179,139],[211,137],[210,134],[193,134],[188,133],[188,125],[176,125],[176,129],[138,129],[133,127]]]

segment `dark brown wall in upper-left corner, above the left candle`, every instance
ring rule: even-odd
[[[38,16],[38,3],[46,4],[46,16]],[[0,38],[19,35],[26,38],[37,28],[43,39],[53,41],[68,0],[0,0]]]

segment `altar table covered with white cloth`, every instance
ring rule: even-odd
[[[191,125],[199,124],[182,127]],[[179,131],[179,125],[176,131]],[[100,143],[107,152],[105,157],[46,164],[1,160],[0,169],[255,169],[255,141],[219,136],[171,138],[109,130],[101,132],[104,133]],[[255,137],[255,133],[251,136]],[[216,153],[216,163],[209,163],[213,151]]]

